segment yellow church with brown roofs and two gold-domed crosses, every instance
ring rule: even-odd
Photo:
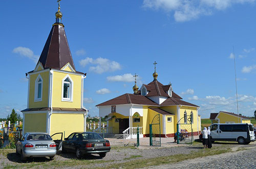
[[[201,132],[201,119],[198,115],[199,106],[185,102],[176,94],[172,84],[163,85],[157,78],[156,62],[154,80],[143,84],[140,89],[133,86],[134,93],[125,93],[117,98],[96,105],[100,117],[107,117],[109,133],[123,134],[125,139],[136,138],[136,129],[139,127],[140,137],[150,134],[150,124],[159,114],[161,137],[174,137],[177,132],[177,123],[188,124],[186,132],[198,135]],[[181,120],[182,119],[182,120]],[[181,128],[178,129],[181,132]]]

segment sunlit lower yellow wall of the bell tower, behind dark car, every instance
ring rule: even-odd
[[[73,132],[83,132],[83,114],[53,113],[51,115],[51,134],[65,132],[68,137]]]

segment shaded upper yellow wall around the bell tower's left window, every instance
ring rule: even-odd
[[[38,75],[42,78],[42,101],[35,102],[35,81]],[[49,71],[30,75],[29,87],[29,108],[48,107]]]

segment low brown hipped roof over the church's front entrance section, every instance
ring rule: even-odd
[[[146,98],[143,95],[139,95],[139,94],[136,95],[136,94],[130,94],[130,93],[125,93],[123,95],[118,96],[117,98],[103,102],[96,106],[110,106],[110,105],[122,105],[122,104],[159,106],[157,103],[153,102],[152,100]]]

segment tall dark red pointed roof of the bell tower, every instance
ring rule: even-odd
[[[75,69],[73,58],[69,49],[67,36],[63,26],[54,25],[46,41],[44,50],[39,58],[44,68],[60,69],[68,62]]]

